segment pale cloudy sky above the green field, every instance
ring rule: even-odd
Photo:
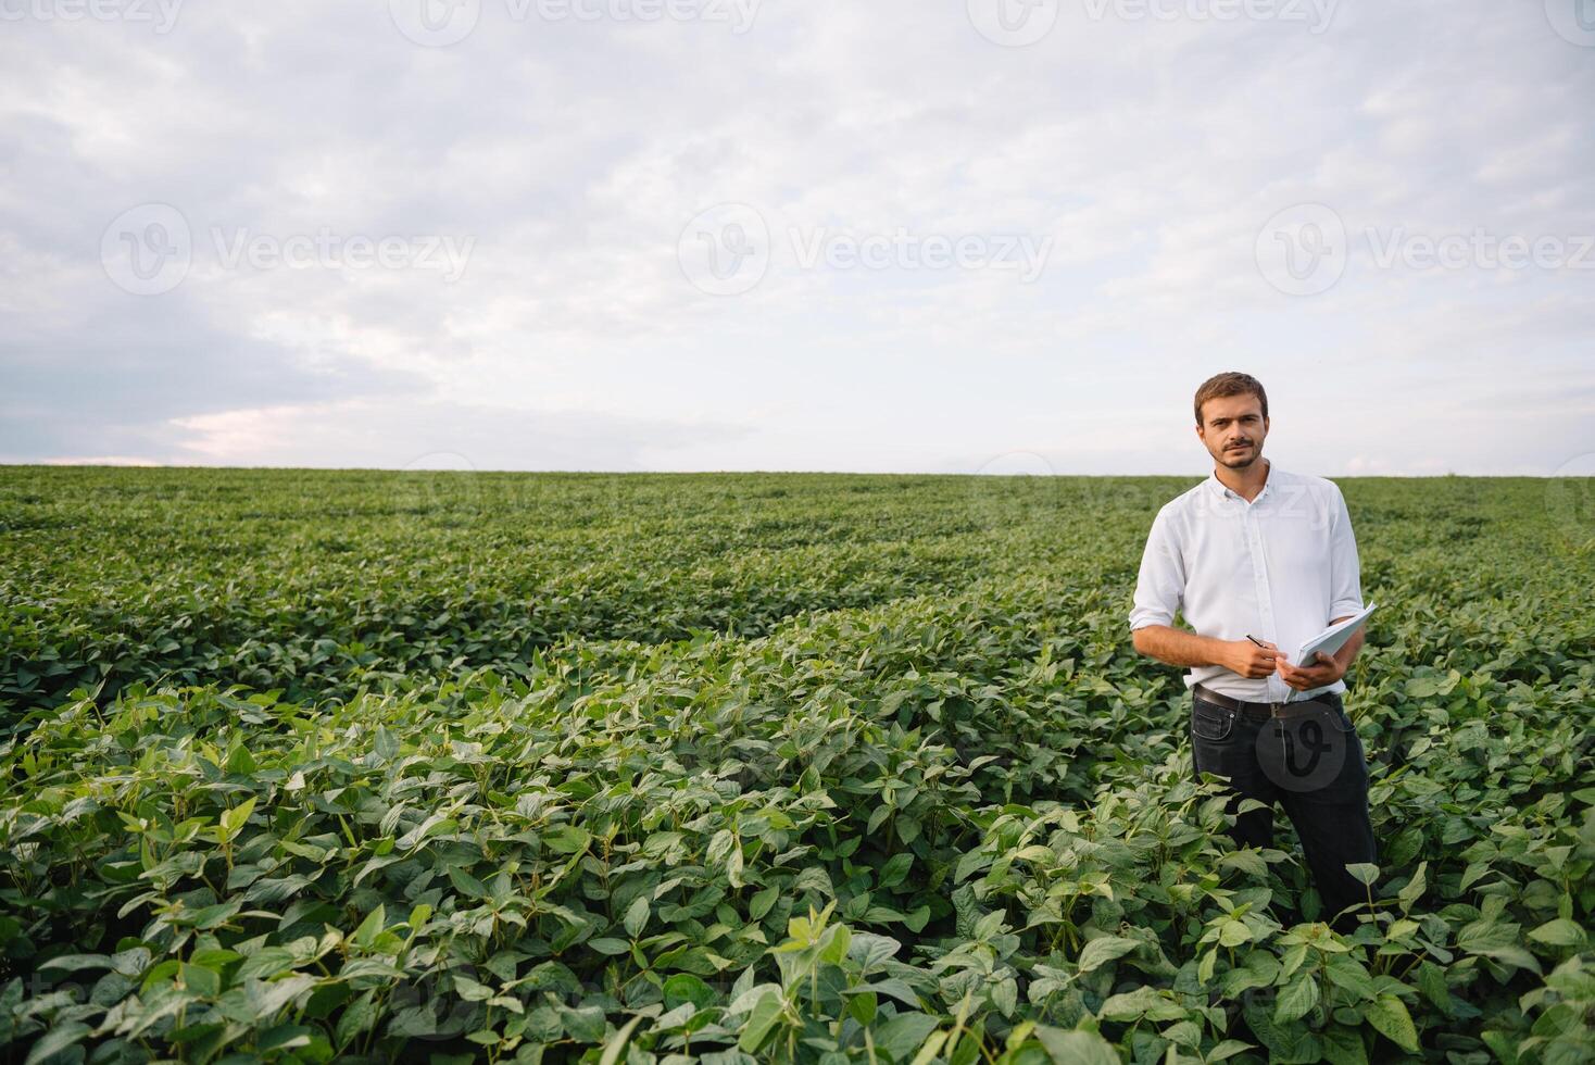
[[[0,0],[0,461],[1595,472],[1595,0]]]

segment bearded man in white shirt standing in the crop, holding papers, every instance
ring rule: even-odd
[[[1346,866],[1376,863],[1367,762],[1340,697],[1362,633],[1311,663],[1281,647],[1295,654],[1362,609],[1351,517],[1332,481],[1263,458],[1268,395],[1255,378],[1203,383],[1196,437],[1214,472],[1152,523],[1129,614],[1136,650],[1190,666],[1191,762],[1227,780],[1231,837],[1271,847],[1278,800],[1335,918],[1367,901]],[[1177,611],[1195,631],[1174,628]],[[1263,808],[1239,813],[1243,799]],[[1354,910],[1333,922],[1343,933],[1356,923]]]

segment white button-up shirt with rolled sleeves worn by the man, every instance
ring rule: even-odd
[[[1357,542],[1340,486],[1287,474],[1270,459],[1252,502],[1217,474],[1158,510],[1147,534],[1129,628],[1172,625],[1176,611],[1201,636],[1278,644],[1292,665],[1309,638],[1362,609]],[[1345,692],[1346,682],[1295,695],[1278,673],[1244,678],[1195,666],[1185,687],[1203,684],[1249,701],[1284,701]]]

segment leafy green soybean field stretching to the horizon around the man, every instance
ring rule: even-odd
[[[1196,480],[0,467],[0,1059],[1595,1060],[1595,485],[1337,481],[1340,934],[1131,647]]]

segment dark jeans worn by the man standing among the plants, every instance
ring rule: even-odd
[[[1378,863],[1369,821],[1369,767],[1362,740],[1340,694],[1314,695],[1290,717],[1254,717],[1191,694],[1191,760],[1198,773],[1223,776],[1227,810],[1243,799],[1266,808],[1236,816],[1230,835],[1241,847],[1273,847],[1274,804],[1286,808],[1324,901],[1321,920],[1365,902],[1369,888],[1346,872],[1351,863]],[[1356,914],[1333,920],[1337,931],[1356,928]]]

